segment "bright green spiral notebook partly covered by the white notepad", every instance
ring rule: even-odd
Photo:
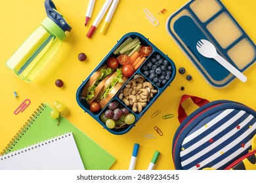
[[[50,116],[53,110],[49,105],[41,104],[39,108],[30,116],[28,122],[18,131],[15,137],[7,145],[1,155],[8,154],[20,148],[30,146],[45,139],[72,132],[83,165],[87,170],[107,170],[116,161],[114,156],[106,152],[101,146],[96,144],[85,133],[77,129],[72,123],[62,116],[60,125]]]

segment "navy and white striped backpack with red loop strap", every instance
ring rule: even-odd
[[[187,116],[182,103],[188,98],[199,108]],[[178,113],[181,125],[172,151],[175,169],[246,169],[245,160],[253,164],[249,169],[256,169],[255,110],[234,101],[183,95]]]

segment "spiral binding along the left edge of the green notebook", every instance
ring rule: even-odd
[[[46,105],[44,105],[43,103],[41,103],[41,105],[39,105],[39,107],[30,116],[28,121],[25,122],[25,124],[20,128],[18,133],[16,133],[16,135],[14,135],[14,137],[11,139],[11,141],[3,149],[3,151],[0,153],[0,156],[3,156],[5,154],[8,154],[9,152],[11,152],[12,147],[17,144],[17,142],[20,140],[20,138],[22,138],[22,135],[24,135],[24,133],[26,133],[28,128],[31,125],[33,125],[33,122],[35,122],[37,116],[39,116],[41,114],[42,110],[44,110],[45,107],[46,107]]]

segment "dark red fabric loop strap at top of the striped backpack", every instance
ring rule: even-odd
[[[179,108],[178,108],[178,119],[179,119],[180,124],[187,117],[186,112],[185,112],[184,108],[182,107],[182,103],[184,101],[186,101],[186,99],[189,99],[189,98],[192,99],[193,103],[198,105],[199,107],[202,107],[203,105],[209,103],[209,101],[207,101],[207,99],[202,99],[200,97],[196,97],[193,95],[182,95],[181,101],[179,103]]]

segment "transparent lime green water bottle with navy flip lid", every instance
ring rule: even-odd
[[[6,62],[7,67],[26,82],[32,82],[49,63],[72,29],[53,1],[45,1],[45,10],[47,18]]]

